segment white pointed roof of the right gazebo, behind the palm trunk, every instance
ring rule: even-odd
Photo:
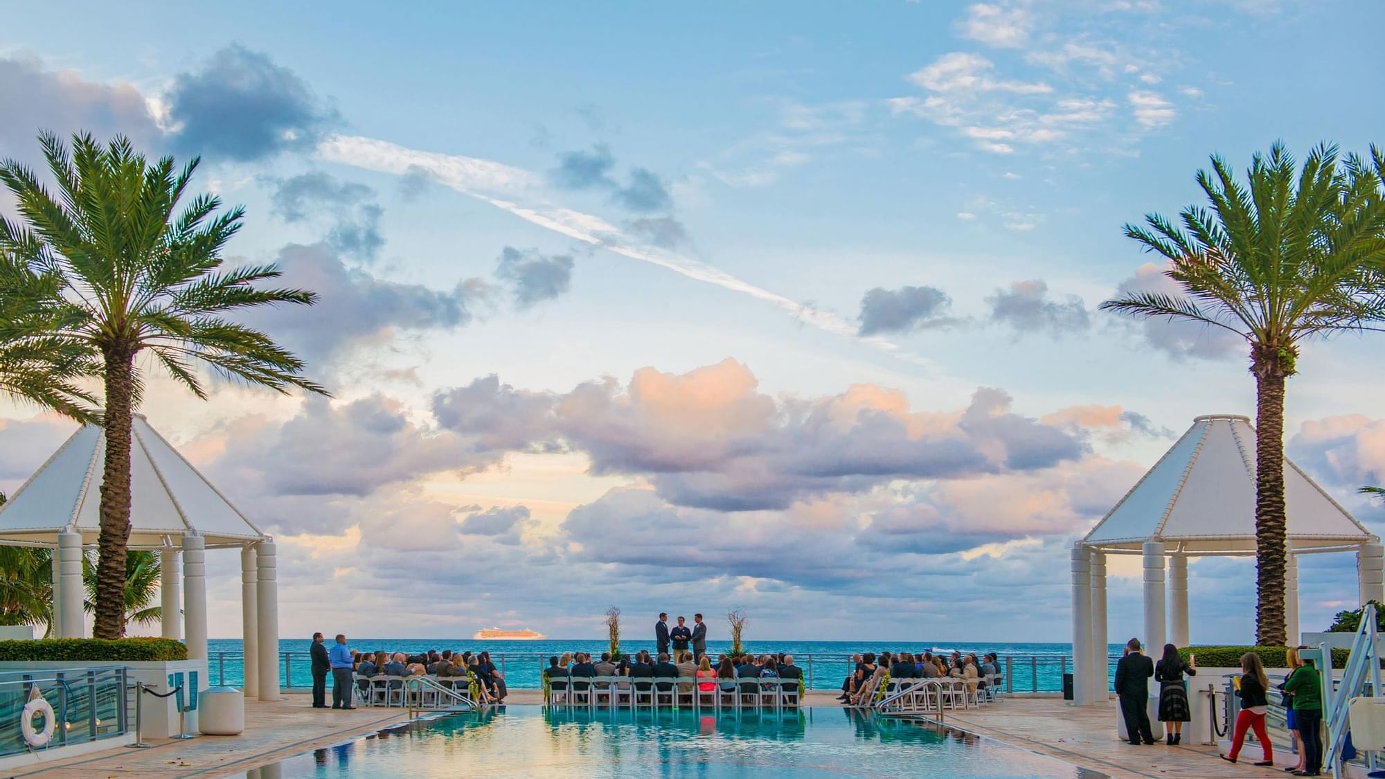
[[[1284,493],[1291,550],[1328,552],[1377,542],[1288,457]],[[1255,428],[1248,417],[1194,419],[1183,438],[1080,543],[1137,550],[1145,541],[1162,541],[1170,552],[1187,554],[1255,552]]]

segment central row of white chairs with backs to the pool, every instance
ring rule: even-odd
[[[704,690],[701,685],[715,685]],[[691,676],[575,676],[548,682],[548,706],[590,708],[756,708],[801,704],[799,681],[778,678],[694,679]]]

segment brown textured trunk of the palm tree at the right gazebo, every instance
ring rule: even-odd
[[[1251,353],[1255,373],[1255,643],[1285,646],[1284,567],[1288,513],[1284,509],[1284,378],[1289,373],[1276,347]]]

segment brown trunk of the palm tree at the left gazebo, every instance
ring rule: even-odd
[[[130,427],[134,349],[105,347],[105,470],[97,539],[96,629],[98,639],[125,636],[125,550],[130,541]]]

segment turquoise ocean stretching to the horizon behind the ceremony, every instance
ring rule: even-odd
[[[331,640],[331,636],[328,636]],[[209,639],[209,672],[212,683],[226,683],[240,686],[244,683],[242,645],[241,639]],[[453,651],[489,651],[496,665],[501,667],[506,681],[512,688],[539,688],[539,674],[547,667],[550,656],[561,656],[565,651],[590,651],[600,654],[608,647],[604,639],[544,639],[544,640],[475,640],[464,639],[378,639],[378,638],[350,638],[348,646],[360,651],[403,651],[406,654],[422,653],[429,649],[439,651],[450,649]],[[312,671],[309,669],[307,649],[312,638],[280,639],[281,678],[285,686],[312,686]],[[731,647],[726,640],[706,642],[708,651],[716,654]],[[622,651],[638,651],[647,649],[654,651],[652,640],[622,640]],[[1062,674],[1072,671],[1071,643],[997,643],[997,642],[968,642],[968,640],[936,640],[936,642],[891,642],[891,640],[860,640],[860,642],[809,642],[809,640],[747,640],[745,649],[756,654],[785,653],[792,654],[795,664],[805,669],[812,678],[810,688],[831,690],[841,686],[842,679],[850,672],[850,656],[860,651],[879,653],[909,651],[909,653],[963,653],[974,651],[978,656],[994,651],[1001,658],[1001,669],[1010,668],[1011,685],[1015,692],[1058,692],[1062,689]],[[1120,657],[1120,645],[1111,645],[1111,654]],[[1007,664],[1008,660],[1008,664]],[[1115,674],[1115,663],[1111,663],[1111,672]]]

